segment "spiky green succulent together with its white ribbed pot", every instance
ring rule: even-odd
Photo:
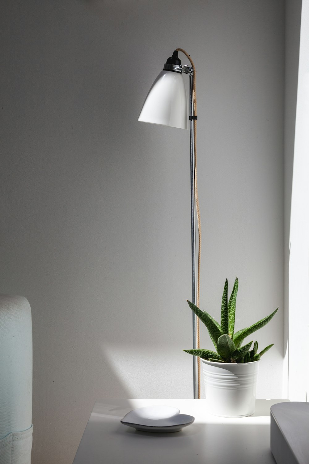
[[[186,353],[198,356],[202,361],[205,395],[208,412],[216,416],[245,417],[254,413],[255,391],[261,356],[272,347],[258,353],[258,342],[242,345],[244,339],[264,327],[276,314],[278,308],[260,321],[234,333],[236,296],[238,278],[236,277],[231,296],[227,298],[225,281],[221,324],[206,311],[188,301],[189,307],[206,325],[216,351],[209,349],[186,349]]]

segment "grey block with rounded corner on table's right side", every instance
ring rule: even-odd
[[[277,464],[309,463],[309,403],[271,406],[271,452]]]

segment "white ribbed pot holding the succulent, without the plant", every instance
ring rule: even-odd
[[[211,362],[201,358],[207,411],[215,416],[251,416],[259,361],[242,364]]]

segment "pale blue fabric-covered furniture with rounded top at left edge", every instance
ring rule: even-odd
[[[0,294],[0,464],[30,464],[32,320],[23,296]]]

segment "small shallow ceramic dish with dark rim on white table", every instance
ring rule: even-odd
[[[179,412],[179,409],[171,406],[139,407],[128,412],[120,422],[142,432],[179,432],[194,422],[193,416]]]

